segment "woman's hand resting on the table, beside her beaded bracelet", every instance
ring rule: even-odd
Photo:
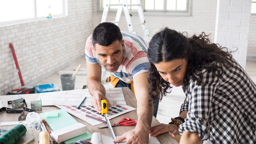
[[[174,137],[175,135],[179,134],[179,127],[176,124],[159,124],[154,127],[151,127],[149,130],[150,136],[156,137],[157,135],[163,133],[171,133],[171,136]]]

